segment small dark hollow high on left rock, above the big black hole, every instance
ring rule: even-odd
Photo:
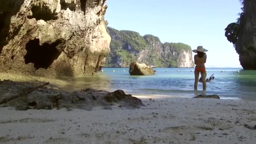
[[[50,21],[50,20],[56,20],[58,17],[51,12],[48,8],[41,8],[38,6],[33,6],[31,9],[32,16],[28,16],[29,19],[35,18],[36,20],[44,20],[44,21]]]

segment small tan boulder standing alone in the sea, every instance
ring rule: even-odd
[[[155,75],[155,72],[156,71],[153,70],[152,67],[149,67],[144,63],[139,64],[138,62],[133,61],[130,64],[130,75]]]

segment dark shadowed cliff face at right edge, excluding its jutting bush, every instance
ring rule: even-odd
[[[256,0],[244,0],[243,4],[235,49],[243,69],[256,69]]]

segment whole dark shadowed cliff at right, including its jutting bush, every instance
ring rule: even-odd
[[[225,29],[225,36],[239,54],[243,69],[256,69],[256,0],[241,0],[242,13]]]

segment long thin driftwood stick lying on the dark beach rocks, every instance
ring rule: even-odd
[[[29,88],[29,90],[24,91],[24,92],[19,93],[19,94],[16,94],[16,95],[3,97],[3,99],[0,100],[0,104],[3,104],[3,103],[6,103],[6,102],[8,102],[8,101],[11,101],[11,100],[13,100],[13,99],[16,99],[16,98],[18,98],[19,96],[22,96],[22,95],[24,95],[24,94],[31,93],[32,91],[35,91],[35,90],[38,89],[38,88],[42,88],[42,87],[44,87],[45,85],[48,85],[48,84],[49,84],[49,82],[48,82],[48,83],[44,83],[43,85],[38,85],[38,86],[36,86],[36,87],[34,87],[34,88]]]

